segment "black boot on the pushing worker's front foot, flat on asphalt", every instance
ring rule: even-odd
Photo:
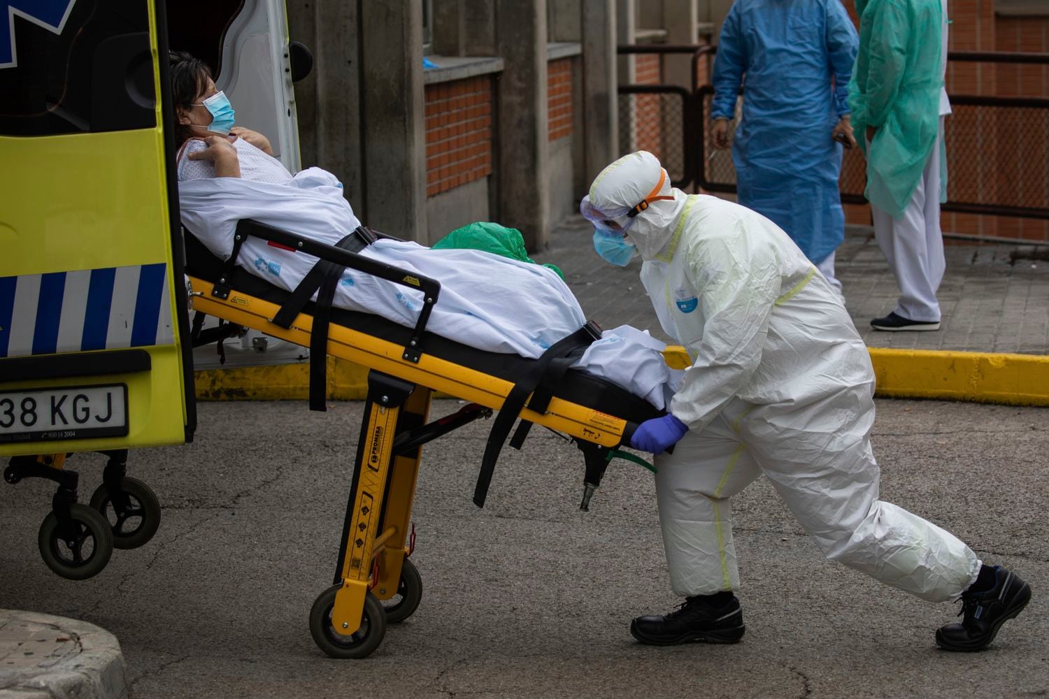
[[[731,592],[686,597],[666,616],[639,616],[630,633],[642,643],[675,646],[693,640],[737,643],[743,638],[743,609]]]

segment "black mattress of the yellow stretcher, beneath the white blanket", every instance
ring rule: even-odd
[[[196,237],[189,233],[186,235],[186,271],[189,275],[210,282],[218,280],[221,276],[224,262],[212,255]],[[282,305],[291,296],[290,291],[270,284],[245,271],[239,265],[229,276],[227,283],[231,288],[242,293],[278,305]],[[440,297],[437,303],[441,303]],[[302,312],[313,315],[314,303],[306,304]],[[336,307],[331,308],[331,323],[402,347],[408,344],[412,334],[411,328],[398,325],[380,315]],[[528,368],[535,363],[535,359],[518,354],[487,352],[429,331],[424,333],[422,345],[424,355],[431,354],[513,383],[516,383],[517,378],[522,376]],[[644,398],[636,396],[604,378],[575,369],[568,371],[555,389],[554,395],[631,422],[643,422],[663,415],[662,411]]]

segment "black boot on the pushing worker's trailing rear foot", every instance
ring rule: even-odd
[[[962,593],[962,622],[940,627],[936,645],[945,651],[982,651],[1030,600],[1031,587],[1020,576],[1002,566],[984,566]]]

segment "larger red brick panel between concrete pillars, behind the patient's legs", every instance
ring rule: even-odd
[[[492,79],[426,86],[426,196],[492,174]]]

